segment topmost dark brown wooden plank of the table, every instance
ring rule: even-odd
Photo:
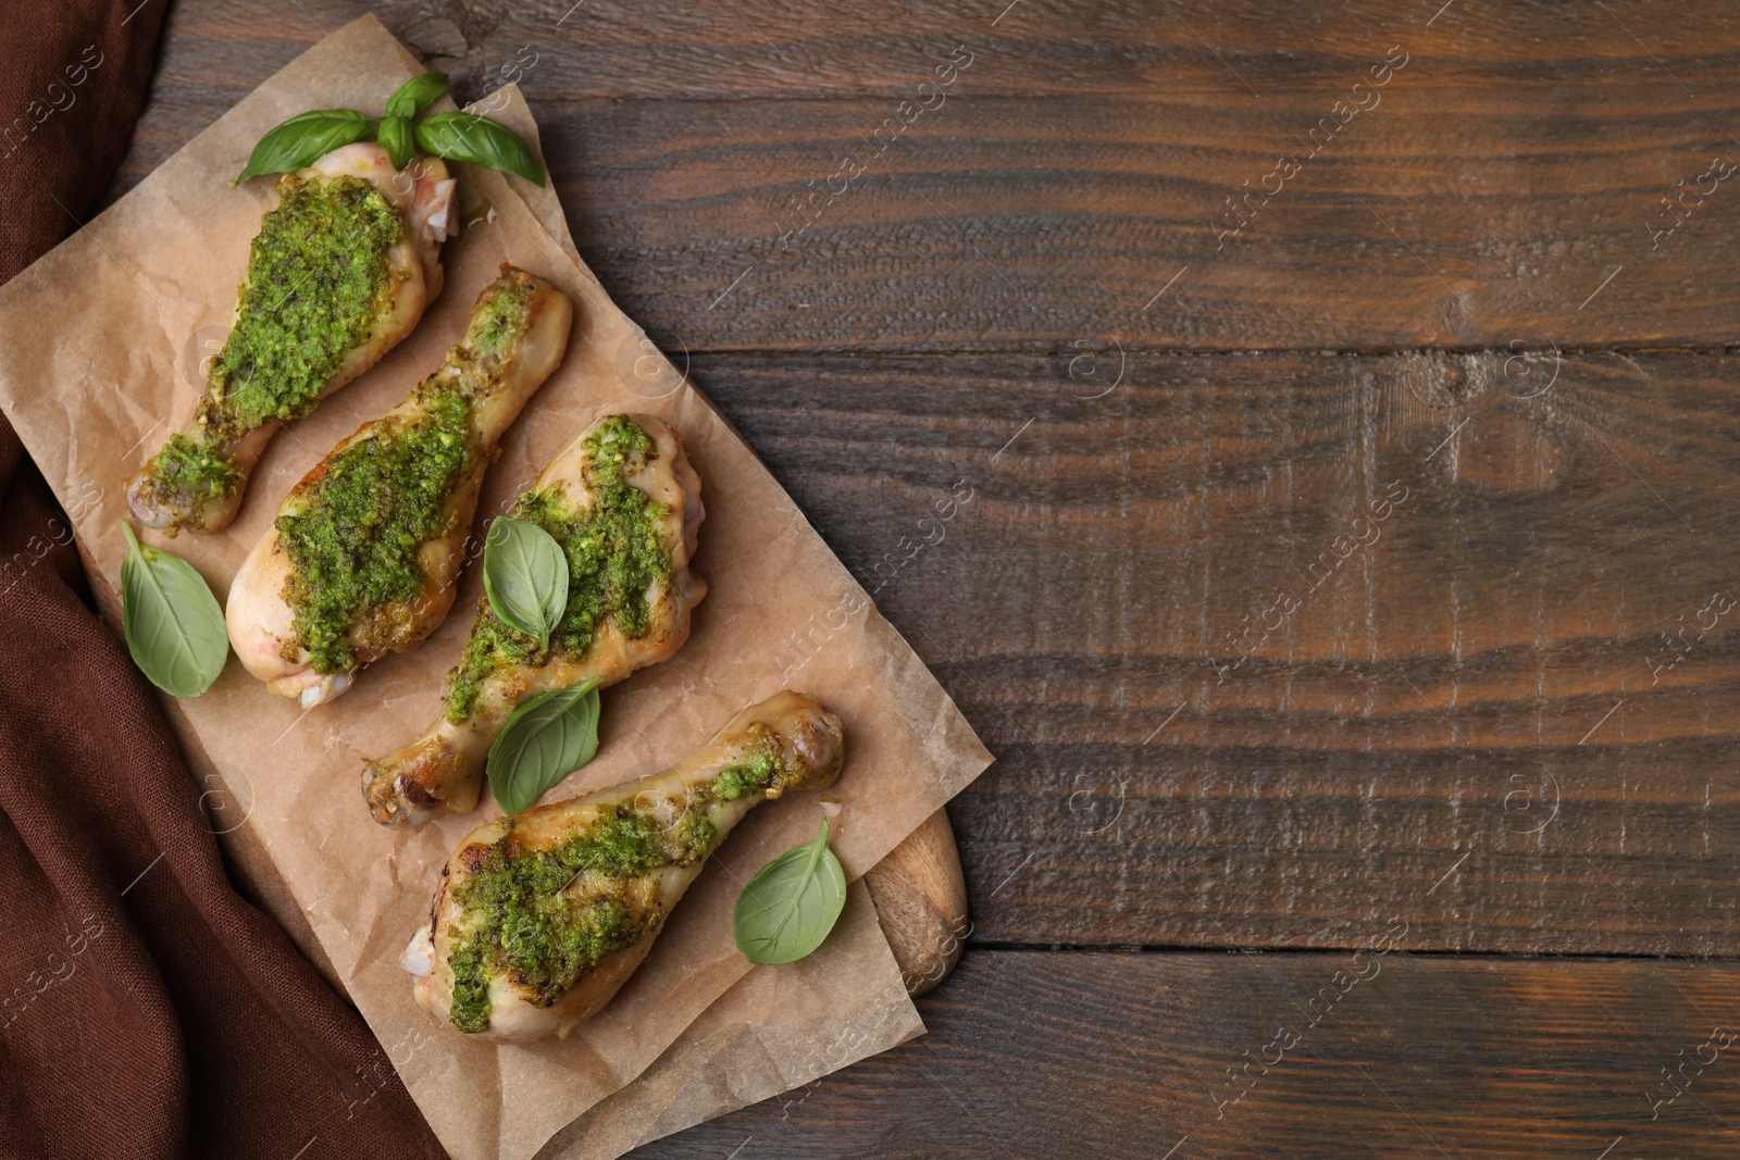
[[[369,7],[177,3],[122,188]],[[581,252],[670,346],[1733,334],[1740,197],[1714,176],[1707,198],[1686,193],[1714,155],[1740,162],[1740,23],[1723,5],[1002,7],[378,10],[463,97],[522,78]],[[903,113],[955,45],[971,68]],[[1401,71],[1355,92],[1392,45]],[[1342,125],[1338,101],[1369,108]],[[889,117],[912,123],[875,137]],[[1314,144],[1322,118],[1338,127]],[[1298,174],[1274,176],[1282,155]],[[846,157],[865,167],[851,183],[833,177]],[[1279,193],[1218,237],[1246,183]],[[797,233],[795,202],[830,184]],[[1650,223],[1674,221],[1660,198],[1683,193],[1686,224],[1655,242]]]

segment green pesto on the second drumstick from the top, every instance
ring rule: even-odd
[[[416,419],[372,428],[278,517],[278,543],[291,557],[284,598],[296,614],[294,640],[317,673],[355,668],[353,624],[378,633],[364,633],[371,647],[402,643],[392,638],[400,617],[371,614],[426,590],[418,553],[452,530],[447,497],[480,452],[461,386],[435,386]]]

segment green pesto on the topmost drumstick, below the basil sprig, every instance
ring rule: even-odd
[[[200,423],[240,435],[313,410],[320,388],[392,310],[400,212],[362,177],[285,179],[247,257],[237,322]]]

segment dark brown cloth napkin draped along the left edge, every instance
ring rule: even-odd
[[[108,186],[167,3],[0,5],[0,280]],[[0,496],[0,1157],[440,1157],[357,1012],[235,892],[212,831],[240,805],[188,774],[3,417]]]

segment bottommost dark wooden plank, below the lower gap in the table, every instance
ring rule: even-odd
[[[969,951],[919,1002],[929,1035],[632,1155],[1714,1160],[1740,1150],[1737,986],[1731,963]]]

